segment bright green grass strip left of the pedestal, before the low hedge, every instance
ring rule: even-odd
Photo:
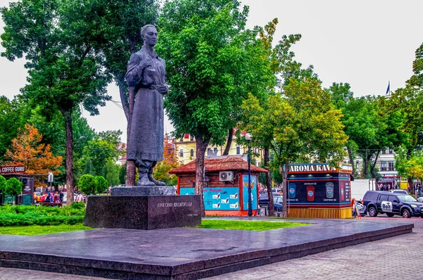
[[[83,229],[92,229],[84,227],[83,224],[59,224],[56,226],[14,226],[0,227],[0,234],[12,235],[39,235],[39,234],[56,234],[66,231],[80,231]]]

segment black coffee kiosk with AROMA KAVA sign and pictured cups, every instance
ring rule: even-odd
[[[326,163],[290,165],[288,217],[344,219],[352,217],[351,165]]]

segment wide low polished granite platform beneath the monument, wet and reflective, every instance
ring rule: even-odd
[[[310,225],[269,231],[93,229],[0,235],[0,267],[110,279],[192,280],[407,234],[413,227],[410,219],[301,222]]]

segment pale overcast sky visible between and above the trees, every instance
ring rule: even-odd
[[[247,27],[278,18],[275,41],[283,34],[301,34],[293,47],[295,59],[305,67],[314,65],[324,87],[348,82],[355,96],[384,95],[388,81],[391,91],[404,87],[415,50],[423,44],[422,0],[241,1],[250,6]],[[8,2],[0,0],[0,6]],[[23,64],[23,59],[0,58],[0,95],[13,98],[25,85]],[[109,94],[120,101],[114,84]],[[121,129],[126,140],[125,115],[114,103],[100,108],[100,115],[84,117],[97,132]],[[168,122],[165,127],[172,129]]]

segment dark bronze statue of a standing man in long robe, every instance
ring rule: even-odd
[[[157,56],[157,28],[141,28],[144,46],[130,56],[126,83],[135,87],[135,106],[128,139],[127,160],[133,160],[140,172],[138,186],[164,186],[153,178],[153,167],[163,159],[163,96],[168,93],[166,65]]]

